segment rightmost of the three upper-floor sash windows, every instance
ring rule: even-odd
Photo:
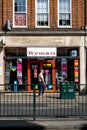
[[[71,0],[58,0],[58,26],[71,26]]]

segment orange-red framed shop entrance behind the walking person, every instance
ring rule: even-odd
[[[56,68],[55,60],[28,60],[28,91],[33,92],[34,88],[39,91],[38,74],[40,69],[44,70],[45,90],[54,92],[56,90]]]

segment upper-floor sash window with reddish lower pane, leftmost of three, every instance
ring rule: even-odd
[[[26,0],[13,0],[13,26],[26,27]]]

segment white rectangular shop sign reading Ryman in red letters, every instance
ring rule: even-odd
[[[28,57],[55,57],[57,56],[57,50],[55,47],[28,47]]]

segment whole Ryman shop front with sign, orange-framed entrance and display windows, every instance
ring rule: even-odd
[[[6,91],[14,91],[14,82],[18,91],[38,92],[38,74],[44,70],[45,92],[60,90],[60,82],[80,83],[79,48],[28,47],[5,49]]]

